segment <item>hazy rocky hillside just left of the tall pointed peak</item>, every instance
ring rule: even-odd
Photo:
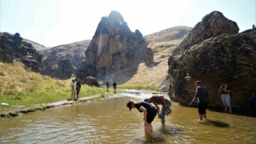
[[[52,78],[68,79],[74,76],[75,71],[82,66],[86,55],[85,52],[90,40],[74,42],[50,49],[41,49],[44,67],[43,74]]]

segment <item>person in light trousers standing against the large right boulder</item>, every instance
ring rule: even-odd
[[[232,108],[231,108],[231,102],[230,102],[230,87],[228,86],[227,83],[222,83],[221,87],[219,88],[219,91],[222,93],[222,102],[223,105],[225,106],[225,111],[227,110],[227,107],[229,107],[230,109],[230,113],[232,112]]]

